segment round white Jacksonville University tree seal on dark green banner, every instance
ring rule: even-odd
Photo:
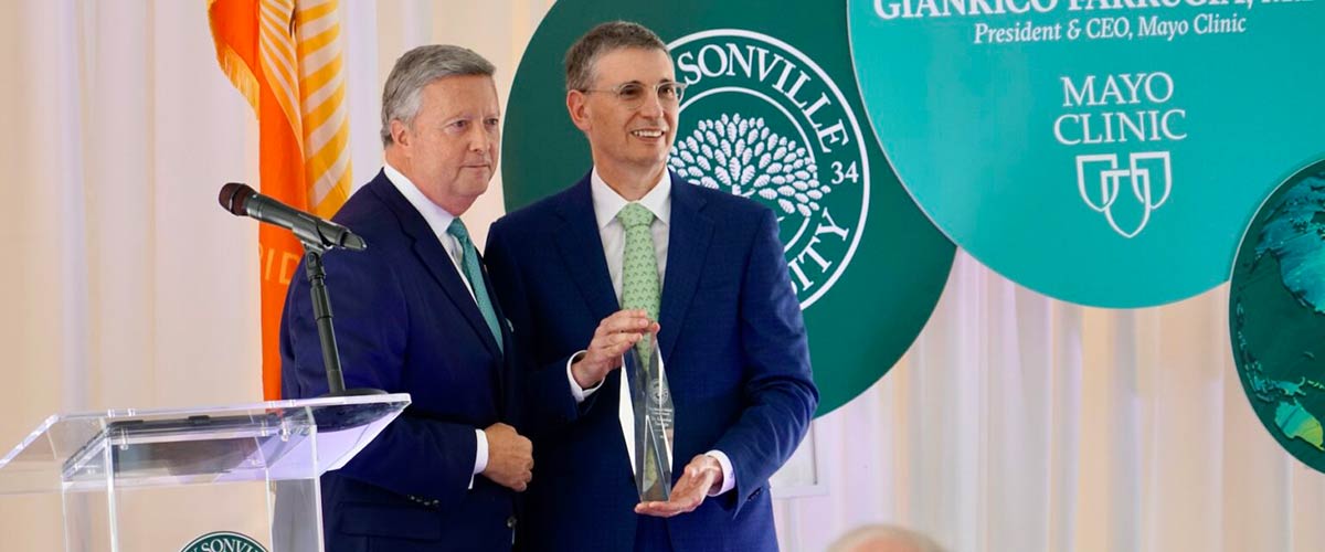
[[[768,205],[800,308],[851,263],[869,205],[869,156],[841,90],[767,34],[710,29],[668,45],[688,85],[670,168]]]

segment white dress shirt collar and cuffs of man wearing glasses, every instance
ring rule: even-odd
[[[625,225],[616,218],[616,214],[625,208],[629,201],[616,193],[612,187],[607,185],[603,177],[598,173],[598,167],[590,173],[590,195],[594,199],[594,218],[598,220],[598,236],[603,240],[603,257],[607,259],[607,273],[612,278],[612,291],[616,293],[616,303],[621,303],[621,270],[623,259],[625,257]],[[659,265],[659,293],[662,291],[664,275],[666,274],[666,250],[668,250],[668,233],[672,226],[672,175],[668,171],[662,171],[662,177],[659,179],[657,184],[653,185],[644,197],[640,197],[639,204],[653,213],[653,222],[649,225],[649,232],[653,234],[653,254],[657,258]],[[571,359],[566,361],[566,379],[571,384],[571,394],[575,397],[575,402],[583,402],[590,394],[594,394],[600,387],[598,385],[584,389],[578,383],[575,383],[574,375],[571,375],[571,364],[583,355],[580,351],[571,355]],[[628,445],[629,446],[629,445]],[[710,450],[705,453],[718,461],[722,466],[722,487],[714,492],[709,492],[709,496],[717,496],[735,487],[737,481],[731,469],[731,459],[721,450]],[[633,462],[631,463],[635,465]]]

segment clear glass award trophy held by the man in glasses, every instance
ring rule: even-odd
[[[647,361],[644,360],[647,359]],[[631,404],[631,417],[625,418],[623,409],[623,429],[631,421],[633,432],[624,432],[627,442],[633,445],[631,455],[635,470],[635,487],[640,491],[640,502],[665,502],[672,495],[672,428],[674,409],[672,392],[666,384],[666,371],[657,340],[645,334],[635,347],[625,352],[621,361],[625,377],[623,398]],[[625,393],[624,391],[629,391]],[[633,438],[631,436],[633,433]]]

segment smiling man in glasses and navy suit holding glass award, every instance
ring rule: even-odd
[[[666,169],[684,85],[653,32],[594,28],[566,54],[566,82],[592,171],[497,221],[486,248],[521,338],[525,413],[545,422],[519,541],[776,549],[768,477],[819,397],[776,218]],[[621,355],[645,334],[676,408],[668,502],[640,503],[619,420]]]

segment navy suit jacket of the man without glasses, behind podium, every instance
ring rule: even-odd
[[[346,387],[413,400],[358,457],[322,478],[326,549],[509,549],[513,492],[482,475],[466,486],[474,429],[514,425],[510,355],[497,348],[428,222],[384,173],[333,220],[368,242],[323,259]],[[302,265],[297,274],[281,326],[286,398],[327,391]],[[502,339],[510,352],[505,324]]]

